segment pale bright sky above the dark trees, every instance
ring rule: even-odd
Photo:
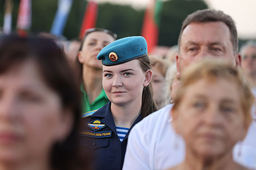
[[[151,0],[94,0],[145,8]],[[189,0],[188,0],[189,1]],[[256,0],[205,0],[210,8],[222,10],[236,22],[240,39],[256,39]]]

